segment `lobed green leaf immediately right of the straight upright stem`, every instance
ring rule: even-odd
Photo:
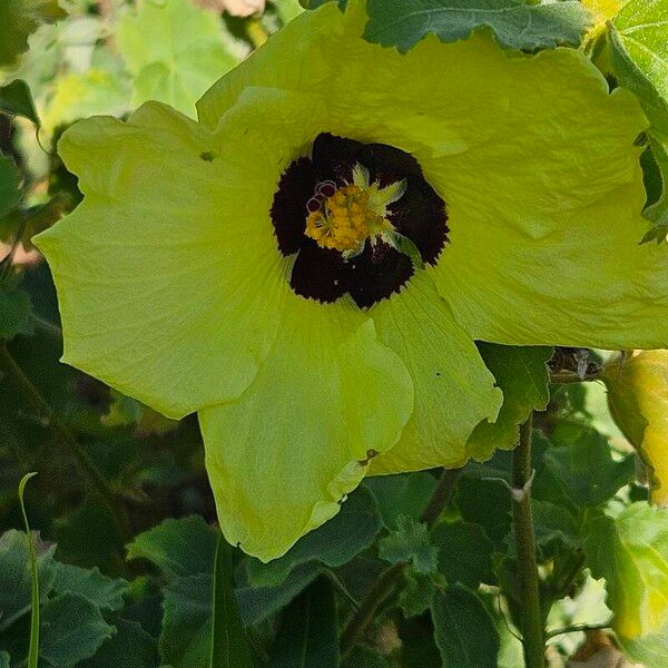
[[[569,445],[548,449],[543,471],[536,480],[537,495],[544,498],[544,488],[553,491],[559,485],[576,504],[596,507],[612,498],[633,474],[632,455],[615,461],[608,439],[583,426]]]

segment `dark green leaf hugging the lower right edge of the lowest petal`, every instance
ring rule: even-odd
[[[375,499],[360,488],[341,505],[337,515],[301,538],[281,559],[268,563],[249,559],[248,578],[256,586],[276,587],[294,568],[307,561],[337,568],[369,548],[381,525]]]

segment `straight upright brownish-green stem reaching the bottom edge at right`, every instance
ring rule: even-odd
[[[532,415],[520,428],[520,441],[512,453],[512,517],[522,592],[521,631],[527,668],[543,668],[546,638],[540,610],[540,582],[536,561],[536,537],[531,518]]]

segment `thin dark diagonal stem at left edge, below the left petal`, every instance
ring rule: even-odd
[[[56,440],[68,448],[84,471],[88,482],[99,493],[99,495],[111,510],[124,542],[130,540],[131,531],[127,514],[125,512],[125,508],[120,504],[117,495],[114,493],[114,490],[109,487],[109,483],[105,480],[102,474],[97,470],[86,450],[84,450],[69,428],[60,420],[60,418],[58,418],[58,415],[53,413],[51,406],[39,393],[37,387],[31,383],[30,379],[23,373],[21,367],[11,356],[7,345],[3,343],[0,344],[0,371],[7,375],[9,382],[14,386],[16,391],[24,397],[31,409],[40,418],[43,418],[45,424],[52,431]]]

